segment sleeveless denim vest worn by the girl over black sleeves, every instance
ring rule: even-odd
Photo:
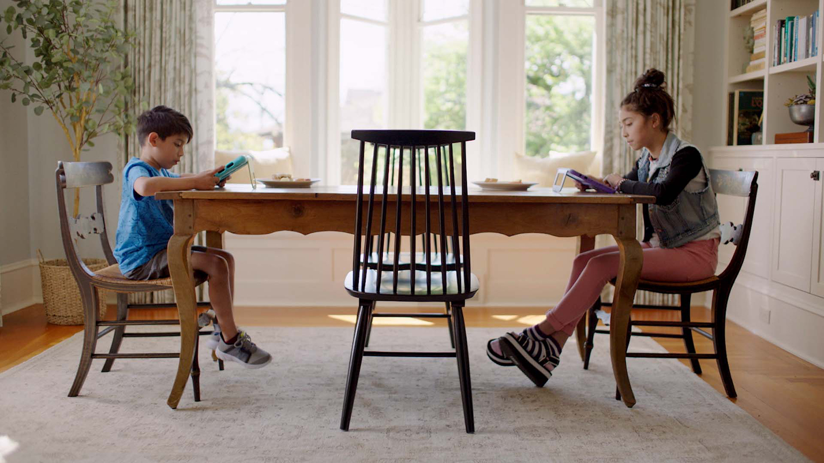
[[[652,180],[654,183],[661,183],[667,178],[672,156],[686,147],[693,147],[693,145],[682,142],[672,132],[667,134],[667,140],[661,148],[661,156],[658,157],[658,175]],[[688,191],[688,186],[672,203],[649,204],[649,221],[652,222],[653,230],[658,233],[662,248],[685,245],[719,226],[718,203],[715,202],[715,193],[712,182],[709,181],[709,170],[704,163],[703,156],[701,157],[701,169],[707,176],[707,185],[704,188]],[[649,151],[644,148],[638,165],[638,180],[646,181],[648,173]]]

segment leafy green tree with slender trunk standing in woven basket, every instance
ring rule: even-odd
[[[134,35],[119,25],[119,0],[14,3],[0,12],[0,27],[5,26],[9,36],[20,33],[34,50],[34,58],[29,63],[23,50],[15,56],[7,40],[0,41],[0,90],[11,91],[12,102],[33,106],[35,115],[48,110],[63,129],[73,161],[80,161],[81,153],[93,147],[99,135],[133,130],[127,102],[134,85],[125,57]],[[80,208],[79,194],[76,189],[73,217]],[[97,263],[101,265],[105,260]],[[82,323],[80,295],[66,261],[41,258],[40,274],[49,321]],[[70,288],[76,296],[68,296]],[[105,311],[103,299],[101,311]],[[50,301],[60,314],[49,316]],[[67,304],[76,307],[71,313],[77,316],[66,312]]]

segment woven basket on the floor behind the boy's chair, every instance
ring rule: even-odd
[[[43,260],[40,255],[40,283],[43,286],[43,306],[46,321],[54,325],[82,325],[85,316],[80,289],[74,279],[72,269],[65,259]],[[91,271],[105,269],[108,266],[102,259],[84,259],[83,263]],[[105,292],[97,290],[100,303],[100,316],[105,316]]]

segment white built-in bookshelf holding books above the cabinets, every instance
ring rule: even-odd
[[[724,0],[731,5],[729,0]],[[744,46],[744,29],[749,26],[753,14],[766,9],[766,67],[753,72],[743,72],[750,62],[750,54]],[[763,143],[775,143],[775,133],[802,132],[803,125],[794,124],[789,119],[789,110],[784,106],[788,98],[808,91],[807,76],[816,82],[816,121],[814,125],[814,143],[824,143],[820,137],[822,124],[822,105],[819,94],[822,84],[822,34],[817,37],[817,56],[798,61],[772,66],[775,22],[787,16],[804,16],[818,11],[824,12],[824,0],[756,0],[728,12],[726,21],[725,72],[727,91],[763,90],[764,119],[761,126]],[[819,19],[819,26],[822,20]],[[723,105],[723,140],[727,140],[728,103],[725,97]]]

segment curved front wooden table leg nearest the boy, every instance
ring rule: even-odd
[[[171,386],[169,400],[166,400],[166,404],[172,409],[177,408],[186,381],[189,381],[194,360],[194,343],[197,342],[198,335],[194,278],[189,261],[189,245],[193,238],[193,235],[174,235],[169,240],[168,248],[169,273],[172,286],[175,288],[177,311],[180,314],[180,359],[175,384]]]

